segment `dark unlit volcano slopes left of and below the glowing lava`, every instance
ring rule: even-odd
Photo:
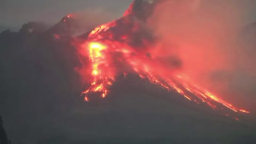
[[[135,7],[137,3],[145,1],[135,1]],[[128,15],[110,29],[120,31],[118,40],[131,33],[123,23],[132,25],[132,19],[143,27],[143,14]],[[18,33],[0,34],[0,114],[13,143],[255,142],[251,122],[237,122],[134,74],[118,77],[107,98],[94,95],[84,102],[76,71],[81,63],[71,44],[73,24],[66,25],[66,18],[36,33],[30,29],[34,25],[25,25]]]

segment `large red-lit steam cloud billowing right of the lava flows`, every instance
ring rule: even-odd
[[[253,21],[255,4],[250,0],[164,1],[147,23],[160,39],[159,54],[178,57],[191,81],[252,109],[256,103],[255,45],[247,43],[242,33]]]

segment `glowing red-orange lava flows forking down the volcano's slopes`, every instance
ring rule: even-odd
[[[117,21],[122,25],[120,26]],[[123,30],[122,34],[119,34],[123,25],[131,25],[131,23],[133,23],[131,30]],[[109,92],[108,87],[115,82],[116,76],[123,74],[126,77],[127,72],[132,72],[167,91],[175,91],[189,101],[200,105],[204,103],[214,110],[226,108],[236,113],[250,113],[221,100],[203,87],[197,86],[190,79],[184,78],[185,75],[173,73],[170,67],[154,54],[155,45],[150,45],[147,39],[141,38],[143,41],[139,46],[132,45],[131,42],[134,41],[132,33],[141,29],[137,24],[129,12],[126,12],[121,19],[92,30],[86,41],[82,42],[81,48],[90,59],[92,77],[91,84],[82,92],[85,101],[89,101],[91,93],[99,93],[102,98],[105,98]],[[118,30],[118,34],[115,29]],[[161,55],[161,57],[164,56]],[[125,68],[119,66],[118,63]],[[229,116],[226,112],[225,115]],[[239,121],[238,118],[235,119]]]

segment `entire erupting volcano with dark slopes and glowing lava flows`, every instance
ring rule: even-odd
[[[162,2],[135,0],[77,37],[74,14],[51,28],[29,22],[1,33],[0,114],[12,142],[254,143],[252,114],[162,51],[147,24]]]

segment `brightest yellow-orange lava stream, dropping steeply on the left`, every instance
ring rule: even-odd
[[[94,37],[94,34],[97,35],[97,33],[106,28],[106,26],[97,27],[89,36]],[[100,92],[102,98],[105,98],[107,95],[107,87],[112,85],[112,82],[115,81],[114,71],[108,67],[110,60],[105,53],[108,46],[97,41],[91,41],[84,43],[82,47],[89,54],[91,61],[91,75],[93,77],[91,85],[82,92],[82,94],[87,95],[93,92]],[[88,98],[86,99],[86,101],[89,101]]]

